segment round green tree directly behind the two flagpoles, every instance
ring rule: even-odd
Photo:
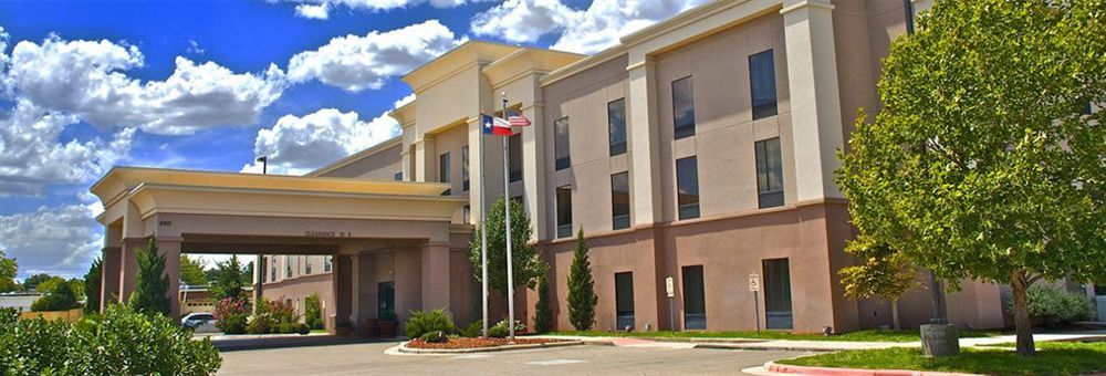
[[[538,249],[530,244],[533,227],[530,216],[522,203],[511,202],[511,257],[514,272],[514,286],[534,289],[542,273],[542,260]],[[507,228],[503,226],[503,198],[488,211],[488,286],[507,296]],[[480,281],[482,268],[480,264],[480,228],[472,237],[469,247],[469,261],[477,281]]]

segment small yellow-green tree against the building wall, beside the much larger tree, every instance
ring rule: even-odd
[[[860,261],[837,271],[845,296],[869,299],[881,296],[891,304],[891,323],[896,331],[899,324],[898,300],[907,291],[918,285],[918,270],[901,253],[883,243],[872,243],[866,237],[849,241],[845,249]]]

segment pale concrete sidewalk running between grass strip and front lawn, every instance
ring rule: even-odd
[[[1068,333],[1036,333],[1033,338],[1036,342],[1065,341],[1086,337],[1106,336],[1106,331],[1083,331]],[[648,337],[619,337],[619,336],[571,336],[571,335],[543,335],[538,337],[566,338],[583,341],[586,344],[613,345],[613,346],[665,346],[670,343],[678,347],[693,348],[724,348],[724,349],[771,349],[771,351],[803,351],[803,352],[839,352],[849,349],[875,349],[890,347],[921,347],[921,342],[855,342],[855,341],[795,341],[795,340],[761,340],[761,338],[648,338]],[[994,337],[960,338],[961,347],[972,347],[981,345],[994,345],[1014,342],[1014,335],[1000,335]],[[690,345],[688,345],[690,344]]]

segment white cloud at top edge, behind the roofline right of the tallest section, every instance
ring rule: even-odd
[[[585,10],[562,0],[507,0],[472,18],[477,35],[511,42],[534,42],[557,33],[554,50],[595,53],[618,44],[618,39],[706,0],[607,0],[593,1]]]

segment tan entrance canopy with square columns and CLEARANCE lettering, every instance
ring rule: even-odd
[[[174,313],[179,312],[181,252],[333,254],[340,264],[335,289],[346,293],[359,288],[341,275],[351,268],[343,263],[365,263],[356,258],[388,252],[394,259],[415,258],[421,267],[404,290],[418,293],[421,305],[449,306],[450,244],[463,244],[471,230],[452,223],[467,200],[441,196],[448,188],[437,182],[116,167],[91,189],[104,205],[96,218],[105,228],[102,302],[129,296],[135,251],[153,238],[166,257]],[[343,281],[352,285],[337,285]],[[337,311],[345,309],[340,314],[357,311],[348,301],[336,303]]]

